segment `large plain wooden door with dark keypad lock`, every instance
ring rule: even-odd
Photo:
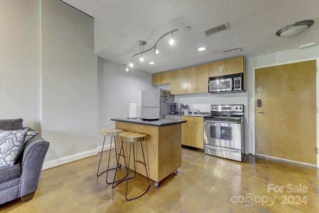
[[[256,154],[317,164],[315,67],[312,60],[256,69]]]

